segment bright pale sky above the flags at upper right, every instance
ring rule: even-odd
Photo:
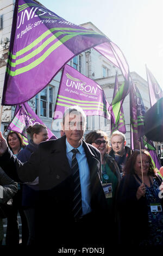
[[[130,71],[147,80],[147,64],[163,89],[163,0],[39,2],[76,25],[91,21],[121,48]]]

